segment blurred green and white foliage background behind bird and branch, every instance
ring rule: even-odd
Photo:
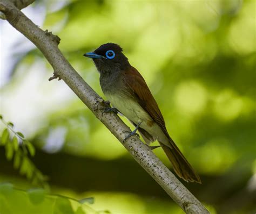
[[[23,11],[59,35],[60,50],[103,98],[83,53],[122,46],[201,176],[203,184],[185,186],[212,213],[255,213],[255,1],[36,1]],[[0,26],[1,113],[35,145],[32,160],[51,192],[94,197],[93,209],[111,213],[183,213],[63,81],[48,81],[42,53]],[[161,149],[154,153],[171,168]],[[4,181],[34,187],[0,147]]]

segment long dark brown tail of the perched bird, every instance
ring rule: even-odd
[[[161,142],[159,143],[161,147],[164,149],[164,152],[166,153],[167,157],[171,161],[174,171],[179,177],[181,177],[181,179],[184,179],[185,181],[201,183],[199,175],[192,168],[190,163],[188,163],[188,161],[180,152],[179,148],[176,146],[172,139],[170,139],[170,144],[172,148],[165,146]]]

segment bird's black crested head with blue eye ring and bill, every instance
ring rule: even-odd
[[[109,73],[113,70],[125,70],[127,66],[130,66],[122,51],[123,49],[119,45],[106,43],[84,56],[93,59],[99,73]]]

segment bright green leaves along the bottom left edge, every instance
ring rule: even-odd
[[[93,198],[77,200],[62,195],[46,194],[44,189],[21,190],[11,183],[0,183],[0,213],[100,214],[88,204]]]

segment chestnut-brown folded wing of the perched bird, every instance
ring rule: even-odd
[[[131,66],[128,70],[125,71],[124,83],[137,97],[140,106],[142,106],[142,108],[149,113],[154,122],[156,122],[161,127],[166,137],[170,139],[170,136],[165,127],[163,115],[158,108],[157,102],[151,94],[149,87],[147,87],[147,84],[142,75],[140,75],[136,68]]]

